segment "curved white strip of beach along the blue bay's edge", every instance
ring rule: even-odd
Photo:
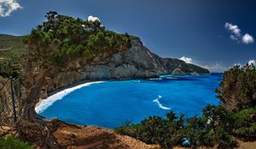
[[[50,95],[47,99],[45,100],[40,100],[38,102],[38,104],[36,105],[36,112],[37,113],[41,113],[44,112],[45,109],[47,109],[49,106],[51,106],[56,100],[61,100],[64,96],[69,95],[70,93],[72,93],[74,90],[76,89],[81,89],[85,86],[89,86],[93,83],[103,83],[102,81],[98,81],[98,82],[92,82],[92,83],[83,83],[80,84],[78,86],[75,86],[73,88],[68,88],[68,89],[64,89],[54,95]]]

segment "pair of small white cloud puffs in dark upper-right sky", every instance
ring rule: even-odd
[[[224,27],[228,32],[230,32],[230,38],[235,40],[237,43],[249,44],[254,42],[253,36],[248,33],[242,36],[241,29],[238,26],[227,22]]]

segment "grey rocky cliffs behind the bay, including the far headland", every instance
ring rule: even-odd
[[[187,64],[183,60],[160,58],[143,46],[138,37],[131,37],[131,49],[124,54],[113,54],[109,60],[87,65],[80,72],[61,73],[54,80],[52,89],[81,80],[158,77],[161,74],[173,74],[177,68],[181,74],[209,73],[207,69]],[[177,72],[175,74],[178,75]]]

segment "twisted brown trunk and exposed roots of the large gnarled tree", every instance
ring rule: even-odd
[[[44,71],[34,79],[32,89],[26,100],[22,102],[22,114],[16,123],[17,135],[40,148],[58,148],[57,141],[53,135],[56,126],[56,120],[48,120],[39,116],[35,111],[35,106],[39,101],[41,90],[44,86],[47,72]],[[26,77],[29,78],[29,77]]]

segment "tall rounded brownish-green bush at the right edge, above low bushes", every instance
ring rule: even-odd
[[[256,70],[253,65],[234,66],[224,72],[218,98],[230,110],[256,106]]]

